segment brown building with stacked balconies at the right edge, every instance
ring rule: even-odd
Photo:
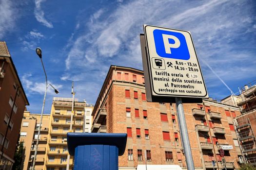
[[[256,166],[256,80],[239,89],[239,95],[228,96],[222,102],[240,107],[242,115],[234,119],[243,158],[240,162]]]

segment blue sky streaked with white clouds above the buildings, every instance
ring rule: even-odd
[[[94,104],[110,65],[142,69],[143,24],[190,31],[210,97],[256,79],[255,0],[0,0],[0,40],[6,41],[30,102],[45,113],[53,97]],[[210,66],[212,70],[208,67]]]

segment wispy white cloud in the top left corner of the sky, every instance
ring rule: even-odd
[[[11,0],[0,0],[0,38],[14,28],[16,11]]]

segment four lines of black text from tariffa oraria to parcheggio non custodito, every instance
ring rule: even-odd
[[[158,88],[158,92],[171,93],[191,93],[201,94],[200,90],[195,89],[196,84],[202,84],[202,81],[184,80],[182,73],[168,73],[167,71],[156,71],[153,77],[154,81],[165,83],[165,88]]]

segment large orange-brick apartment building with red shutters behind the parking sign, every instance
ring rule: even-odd
[[[136,170],[145,165],[145,157],[147,165],[176,164],[186,169],[176,105],[146,102],[143,76],[135,68],[110,67],[92,113],[92,132],[127,133],[120,170]],[[238,169],[241,153],[233,119],[240,115],[239,108],[214,100],[183,107],[195,168],[225,168],[219,154],[225,148],[226,168]]]

